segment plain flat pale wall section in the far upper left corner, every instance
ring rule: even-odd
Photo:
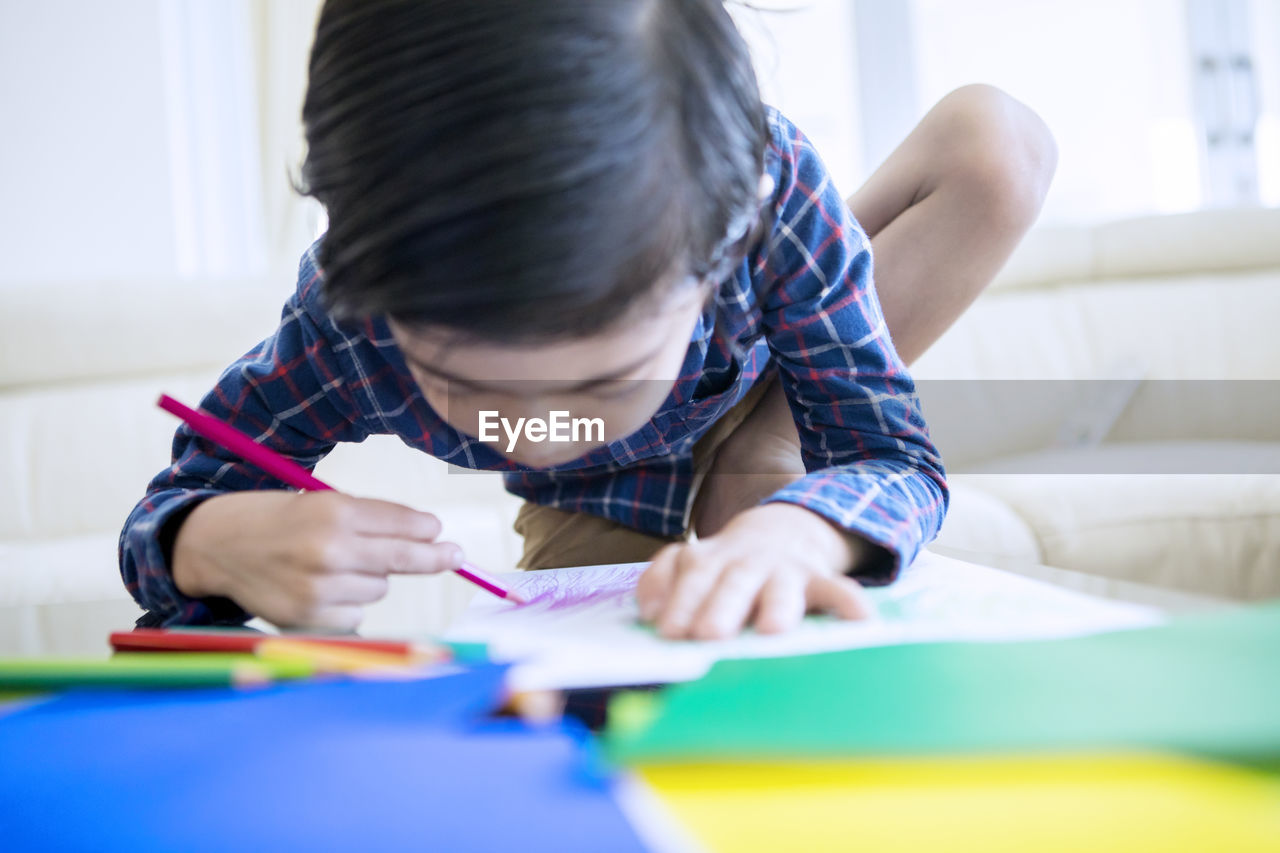
[[[156,0],[0,4],[0,282],[175,265]]]

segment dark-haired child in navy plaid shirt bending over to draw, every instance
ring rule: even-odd
[[[719,0],[329,0],[303,122],[329,229],[210,414],[306,466],[392,433],[506,471],[521,565],[653,560],[641,615],[672,638],[861,616],[858,584],[937,533],[890,329],[923,351],[1034,218],[1052,154],[1020,105],[948,97],[851,200],[883,313]],[[545,441],[554,412],[585,429]],[[460,564],[440,535],[180,428],[120,567],[142,624],[351,629],[389,574]]]

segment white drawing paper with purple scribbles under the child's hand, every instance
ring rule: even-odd
[[[819,616],[781,635],[746,631],[728,640],[666,640],[637,620],[635,584],[646,565],[500,574],[529,603],[517,607],[476,596],[447,639],[488,643],[494,660],[518,663],[513,686],[536,689],[686,681],[721,658],[932,640],[1047,639],[1162,621],[1151,607],[924,552],[896,583],[868,590],[877,620]]]

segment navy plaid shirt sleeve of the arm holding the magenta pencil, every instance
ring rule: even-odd
[[[334,348],[307,310],[300,287],[275,333],[228,368],[200,409],[303,467],[337,442],[362,441],[364,426],[344,386]],[[195,599],[173,581],[173,538],[201,501],[227,492],[284,489],[284,483],[196,435],[182,424],[173,462],[147,487],[120,532],[120,574],[147,613],[140,625],[239,624],[251,617],[225,598]]]

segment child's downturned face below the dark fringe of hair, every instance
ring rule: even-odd
[[[513,462],[550,467],[626,438],[653,418],[680,377],[705,296],[703,287],[682,287],[603,333],[536,346],[458,342],[443,329],[390,327],[422,396],[451,426]],[[582,424],[577,441],[530,441],[517,426],[521,418],[550,425],[557,411],[567,412],[559,437],[573,438],[572,419],[603,425]]]

